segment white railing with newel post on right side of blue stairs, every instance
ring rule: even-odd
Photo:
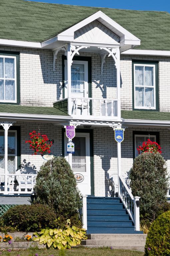
[[[124,178],[119,175],[119,196],[125,206],[129,216],[131,217],[135,230],[140,231],[140,217],[139,217],[139,196],[133,196],[128,188]]]

